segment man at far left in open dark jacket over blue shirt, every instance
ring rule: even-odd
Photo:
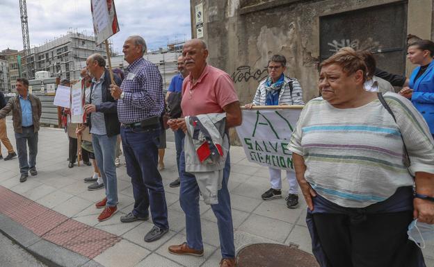
[[[29,93],[29,80],[18,78],[16,89],[18,96],[10,98],[6,106],[0,110],[0,119],[4,119],[12,111],[19,172],[21,173],[19,182],[26,182],[29,171],[31,175],[38,174],[35,166],[42,105],[38,97]],[[27,144],[29,144],[29,162],[27,161]]]

